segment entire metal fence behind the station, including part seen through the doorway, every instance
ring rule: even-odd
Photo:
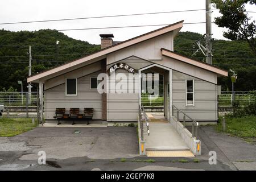
[[[255,97],[249,92],[235,92],[235,100],[240,105],[255,102]],[[159,96],[142,94],[141,104],[146,107],[164,105],[164,95]],[[220,110],[231,109],[233,103],[232,92],[221,92],[218,97]],[[31,92],[0,92],[0,109],[3,108],[3,116],[7,117],[37,117],[38,115],[38,93]]]

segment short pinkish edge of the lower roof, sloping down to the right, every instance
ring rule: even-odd
[[[211,64],[203,63],[201,61],[192,59],[191,57],[187,57],[187,56],[181,55],[179,53],[176,53],[174,51],[170,51],[170,50],[167,50],[164,48],[161,48],[161,51],[162,51],[163,56],[171,57],[172,59],[183,61],[184,63],[191,64],[196,67],[206,69],[207,71],[217,73],[220,76],[228,76],[227,71],[225,71],[224,69],[213,67],[213,65],[211,65]]]

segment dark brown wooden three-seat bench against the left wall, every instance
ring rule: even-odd
[[[87,125],[89,125],[89,121],[93,117],[93,108],[84,108],[84,114],[80,114],[79,108],[70,108],[69,114],[65,114],[65,108],[56,108],[55,116],[53,118],[58,120],[57,125],[60,125],[61,119],[64,120],[72,120],[72,125],[75,125],[75,120],[85,120],[87,121]]]

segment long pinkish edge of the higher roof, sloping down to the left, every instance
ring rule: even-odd
[[[46,71],[43,71],[43,72],[40,72],[40,73],[37,73],[35,75],[28,77],[27,82],[36,82],[36,80],[38,81],[40,78],[52,75],[53,73],[64,71],[65,69],[74,67],[76,65],[82,64],[82,63],[92,60],[92,59],[96,59],[97,57],[101,57],[101,56],[107,55],[109,53],[118,51],[120,49],[129,47],[129,46],[133,46],[134,44],[138,44],[145,40],[155,38],[156,36],[163,35],[163,34],[166,34],[168,32],[174,31],[174,30],[178,30],[181,27],[183,27],[183,20],[180,22],[174,23],[174,24],[170,24],[169,26],[148,32],[147,34],[143,34],[143,35],[137,36],[135,38],[123,41],[121,43],[114,44],[113,46],[101,49],[98,52],[92,53],[92,54],[82,57],[80,59],[70,61],[68,63],[59,65],[57,67],[53,67],[51,69],[47,69]]]

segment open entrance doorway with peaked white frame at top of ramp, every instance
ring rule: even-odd
[[[139,103],[144,107],[148,119],[151,122],[168,122],[172,104],[170,97],[171,69],[158,64],[152,64],[140,69],[139,75]],[[159,78],[158,81],[156,81],[157,78]],[[146,85],[143,85],[145,82]],[[154,93],[148,92],[152,90],[154,90]]]

